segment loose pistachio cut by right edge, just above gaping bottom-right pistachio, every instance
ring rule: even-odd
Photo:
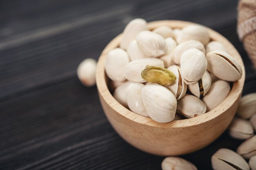
[[[244,157],[245,159],[250,159],[256,155],[256,135],[247,139],[243,142],[236,150],[236,152]]]

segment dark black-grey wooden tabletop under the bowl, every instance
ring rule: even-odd
[[[126,143],[112,129],[97,88],[85,88],[76,67],[97,59],[133,18],[187,20],[229,39],[246,66],[244,94],[256,74],[236,34],[237,0],[0,0],[0,169],[159,170],[164,157]],[[184,155],[211,169],[218,148],[241,143],[225,132]]]

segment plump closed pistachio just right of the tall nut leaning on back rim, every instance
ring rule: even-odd
[[[160,57],[167,53],[168,46],[165,39],[151,31],[141,31],[136,40],[141,52],[147,57]]]

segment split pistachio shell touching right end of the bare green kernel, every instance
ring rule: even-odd
[[[166,87],[169,90],[171,90],[171,92],[173,92],[177,100],[180,100],[180,98],[182,98],[186,94],[186,89],[187,89],[187,85],[184,82],[183,77],[181,76],[181,73],[180,73],[180,67],[177,65],[171,65],[167,69],[173,72],[173,74],[175,74],[175,76],[177,77],[177,80],[175,84],[169,85]]]

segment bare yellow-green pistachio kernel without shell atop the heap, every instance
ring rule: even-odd
[[[173,85],[176,76],[170,70],[155,65],[147,65],[141,72],[141,77],[150,83]]]

